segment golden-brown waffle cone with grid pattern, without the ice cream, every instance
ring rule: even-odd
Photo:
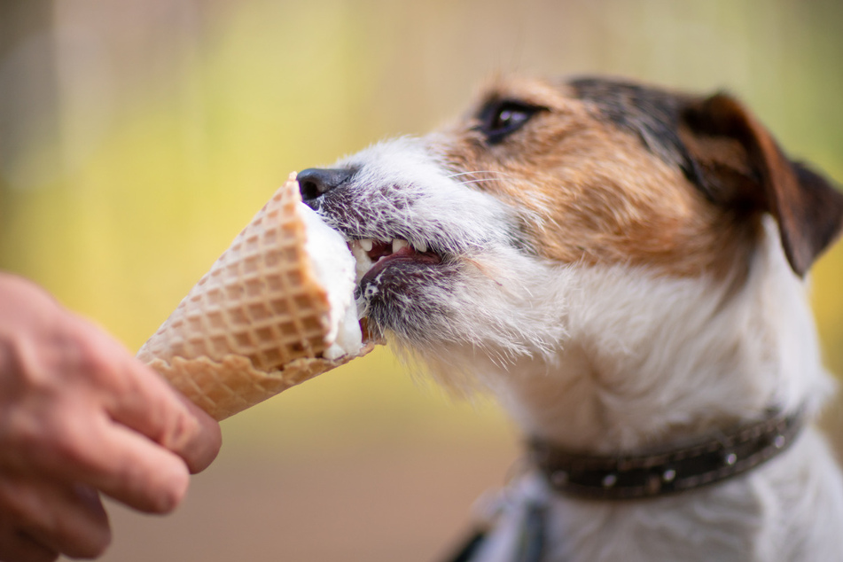
[[[322,358],[330,305],[300,203],[291,175],[137,353],[217,420],[371,350]]]

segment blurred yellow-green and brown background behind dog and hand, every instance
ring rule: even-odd
[[[841,28],[839,0],[0,0],[0,269],[137,349],[289,171],[499,71],[725,88],[843,179]],[[841,280],[838,245],[813,278],[838,373]],[[112,506],[106,560],[433,560],[517,457],[494,406],[383,350],[222,426],[175,516]]]

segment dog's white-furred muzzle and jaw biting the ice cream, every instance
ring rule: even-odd
[[[335,166],[355,175],[311,205],[362,264],[357,297],[374,336],[451,385],[478,351],[498,362],[555,354],[565,300],[548,287],[566,274],[525,250],[518,210],[444,168],[430,138],[376,144]],[[389,255],[369,255],[379,248]]]

